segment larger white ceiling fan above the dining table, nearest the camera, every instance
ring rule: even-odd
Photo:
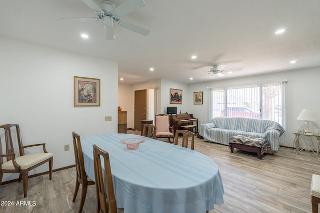
[[[96,3],[96,0],[82,0],[87,6],[94,10],[97,17],[71,17],[62,19],[76,19],[79,21],[96,20],[103,21],[105,37],[107,40],[112,40],[114,36],[114,24],[134,31],[141,35],[148,35],[150,30],[137,26],[133,23],[120,20],[121,16],[129,14],[134,10],[145,5],[144,0],[127,0],[119,6],[115,7],[114,3],[109,0],[104,0],[102,3]]]

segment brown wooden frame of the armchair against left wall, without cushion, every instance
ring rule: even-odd
[[[15,128],[16,131],[16,138],[19,146],[19,154],[20,157],[24,156],[24,149],[29,148],[29,147],[35,147],[35,146],[42,146],[43,153],[51,154],[51,157],[40,161],[39,163],[36,163],[35,165],[26,168],[26,169],[21,169],[20,165],[17,164],[16,159],[20,157],[15,157],[15,152],[13,149],[13,144],[12,144],[12,129]],[[5,124],[0,126],[0,129],[4,129],[4,135],[5,135],[5,144],[6,144],[6,150],[5,154],[2,153],[2,147],[1,147],[1,139],[0,139],[0,168],[3,164],[3,157],[6,157],[6,161],[12,160],[12,164],[14,169],[0,169],[0,184],[2,181],[3,173],[19,173],[19,179],[18,182],[21,181],[22,179],[22,186],[23,186],[23,196],[26,198],[27,196],[27,184],[28,184],[28,172],[46,162],[49,163],[49,180],[52,179],[52,163],[53,163],[53,156],[52,153],[48,153],[45,149],[45,143],[41,144],[32,144],[32,145],[27,145],[23,146],[22,144],[22,139],[21,139],[21,134],[20,134],[20,128],[18,124]],[[28,154],[27,154],[28,155]],[[25,155],[25,156],[27,156]],[[30,156],[32,154],[29,154]]]

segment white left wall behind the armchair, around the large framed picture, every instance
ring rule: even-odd
[[[19,124],[24,145],[45,142],[53,169],[74,164],[72,131],[81,138],[117,132],[116,62],[5,37],[0,46],[0,125]],[[73,76],[100,79],[100,107],[73,107]],[[2,181],[17,177],[5,174]]]

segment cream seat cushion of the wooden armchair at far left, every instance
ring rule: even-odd
[[[46,159],[49,159],[53,156],[52,153],[35,153],[35,154],[27,154],[22,155],[15,158],[16,163],[20,166],[20,170],[28,169]],[[1,165],[1,169],[3,170],[15,170],[12,160],[7,161]]]

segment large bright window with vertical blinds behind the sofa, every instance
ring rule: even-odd
[[[284,127],[285,81],[211,88],[210,117],[245,117]]]

